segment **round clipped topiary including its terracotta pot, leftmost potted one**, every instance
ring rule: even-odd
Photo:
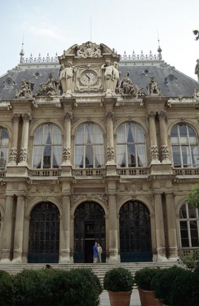
[[[104,289],[109,293],[111,306],[129,306],[134,278],[124,268],[107,271],[104,278]]]

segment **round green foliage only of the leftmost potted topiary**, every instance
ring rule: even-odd
[[[115,268],[105,274],[104,289],[108,291],[131,291],[133,284],[133,276],[127,269]]]

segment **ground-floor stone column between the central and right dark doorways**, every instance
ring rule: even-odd
[[[116,195],[109,195],[109,263],[117,263],[118,238],[117,238],[117,213]]]

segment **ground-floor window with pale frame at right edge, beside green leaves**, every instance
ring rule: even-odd
[[[187,203],[180,209],[180,234],[182,247],[199,246],[198,209]]]

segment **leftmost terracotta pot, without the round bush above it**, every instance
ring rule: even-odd
[[[108,291],[111,306],[130,306],[132,291]]]

